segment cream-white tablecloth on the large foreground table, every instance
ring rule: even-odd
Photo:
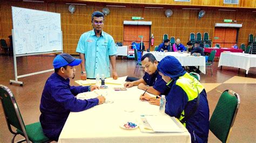
[[[107,91],[106,101],[113,103],[71,112],[58,142],[191,142],[190,133],[185,127],[181,133],[142,133],[139,128],[121,128],[119,125],[124,121],[138,121],[140,115],[156,115],[159,106],[140,101],[139,96],[144,91],[137,87],[127,91],[114,91],[110,87],[104,89]]]

